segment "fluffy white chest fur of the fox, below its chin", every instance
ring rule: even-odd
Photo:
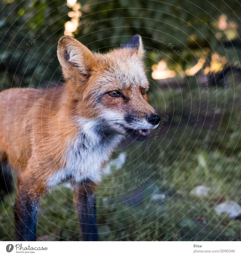
[[[110,140],[93,131],[80,132],[64,155],[65,167],[50,177],[48,187],[54,187],[66,180],[81,182],[90,179],[99,182],[103,173],[102,166],[109,160],[120,140],[120,135],[115,135]]]

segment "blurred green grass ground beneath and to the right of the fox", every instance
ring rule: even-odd
[[[169,116],[157,139],[153,136],[124,149],[125,165],[105,175],[97,190],[97,223],[102,241],[240,241],[240,219],[223,213],[217,216],[215,205],[233,200],[241,204],[240,141],[241,123],[226,148],[240,111],[238,95],[227,91],[227,109],[217,130],[224,101],[224,88],[154,89],[160,95],[158,112]],[[160,93],[161,92],[161,93]],[[164,103],[165,102],[165,103]],[[192,102],[192,105],[190,103]],[[197,126],[185,150],[181,149]],[[213,125],[196,159],[210,124]],[[116,157],[115,153],[113,157]],[[144,181],[144,182],[143,182]],[[140,184],[142,183],[142,184]],[[140,184],[140,185],[138,185]],[[205,185],[205,197],[192,189]],[[153,194],[165,194],[153,201]],[[14,193],[0,205],[0,239],[14,239]],[[46,240],[81,240],[72,189],[59,185],[47,194],[39,207],[37,236]]]

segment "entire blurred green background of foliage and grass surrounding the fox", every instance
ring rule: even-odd
[[[100,240],[241,240],[240,1],[0,0],[0,14],[0,91],[63,81],[62,35],[99,52],[142,36],[162,121],[114,152],[97,190]],[[0,205],[0,240],[15,237],[14,197]],[[68,184],[42,200],[37,236],[82,239]]]

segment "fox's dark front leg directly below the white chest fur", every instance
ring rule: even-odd
[[[84,241],[98,241],[95,215],[96,184],[90,180],[74,183],[74,201]]]

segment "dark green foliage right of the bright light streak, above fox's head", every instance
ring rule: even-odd
[[[151,48],[147,50],[149,65],[164,58],[171,69],[180,71],[190,67],[190,64],[183,62],[170,46],[168,47],[169,43],[191,64],[196,64],[196,59],[207,52],[210,62],[211,53],[217,52],[227,55],[232,64],[239,65],[239,43],[230,43],[230,40],[238,38],[240,34],[237,24],[240,22],[241,6],[235,1],[227,1],[222,5],[219,1],[204,3],[179,0],[89,0],[80,3],[83,6],[80,22],[82,26],[87,26],[80,27],[76,31],[76,37],[88,44],[92,50],[105,51],[107,46],[119,46],[130,36],[140,34],[146,49]],[[233,22],[233,27],[227,30],[218,28],[221,14],[225,15],[229,22]],[[227,48],[226,52],[215,37],[216,33]]]

